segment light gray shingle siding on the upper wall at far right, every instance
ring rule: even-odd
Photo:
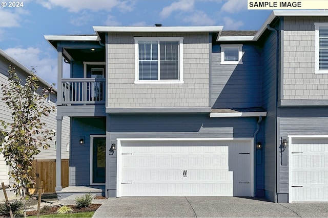
[[[327,100],[328,74],[315,74],[315,22],[328,17],[284,17],[284,100]]]

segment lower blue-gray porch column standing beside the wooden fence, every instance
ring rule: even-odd
[[[56,130],[56,187],[55,191],[61,191],[61,122],[63,120],[62,116],[56,116],[57,120],[57,130]]]

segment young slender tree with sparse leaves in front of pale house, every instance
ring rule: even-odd
[[[0,152],[10,166],[9,175],[14,180],[12,187],[16,196],[22,198],[25,210],[25,200],[29,197],[27,189],[35,184],[30,174],[32,162],[35,155],[40,153],[40,148],[50,147],[48,140],[52,140],[51,135],[54,135],[53,131],[44,128],[46,123],[40,119],[55,110],[54,106],[46,103],[48,95],[53,93],[54,89],[53,86],[44,89],[39,87],[34,68],[25,84],[22,84],[12,65],[9,65],[8,73],[9,85],[1,84],[1,89],[2,100],[12,111],[12,122],[0,120],[5,129],[2,130],[5,137]]]

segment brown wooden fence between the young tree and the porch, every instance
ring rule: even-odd
[[[56,160],[34,160],[33,171],[36,185],[29,188],[31,193],[37,192],[40,181],[43,181],[43,193],[54,193],[56,187]],[[61,187],[69,185],[69,160],[61,160]]]

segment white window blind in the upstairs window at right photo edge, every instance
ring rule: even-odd
[[[328,27],[319,27],[319,70],[328,69]]]

